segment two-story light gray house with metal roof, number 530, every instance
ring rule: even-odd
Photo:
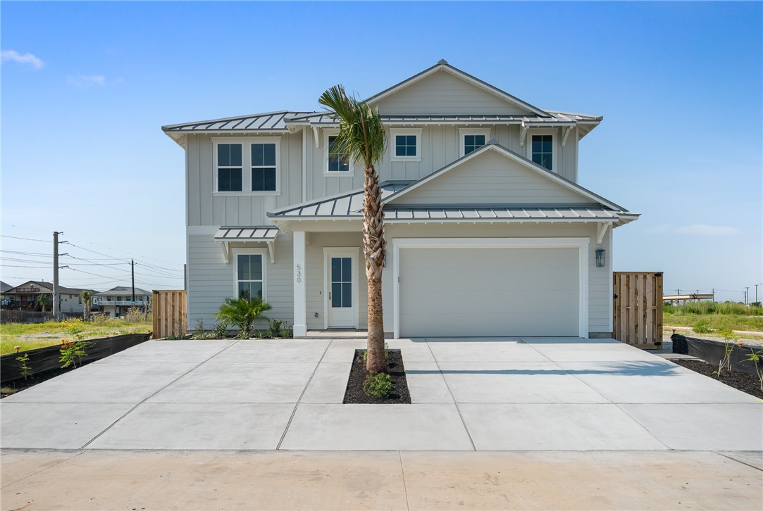
[[[578,185],[578,143],[602,117],[536,108],[444,60],[366,101],[388,127],[388,336],[610,336],[613,228],[638,214]],[[298,337],[366,328],[363,169],[330,157],[336,118],[163,131],[185,149],[189,324],[248,291]]]

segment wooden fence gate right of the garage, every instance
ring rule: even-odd
[[[614,272],[614,337],[642,349],[662,348],[662,272]]]

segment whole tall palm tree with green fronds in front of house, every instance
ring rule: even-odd
[[[386,246],[381,190],[375,166],[387,146],[387,133],[381,124],[378,108],[349,97],[342,85],[334,85],[318,102],[339,117],[339,135],[332,155],[344,162],[353,159],[365,167],[363,182],[363,253],[365,276],[369,281],[369,338],[365,370],[389,372],[384,349],[384,316],[381,309],[381,270]]]

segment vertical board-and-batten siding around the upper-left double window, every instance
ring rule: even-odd
[[[216,137],[217,138],[217,137]],[[230,137],[230,142],[255,137]],[[246,149],[245,149],[246,150]],[[186,157],[186,225],[267,225],[267,212],[302,200],[301,133],[280,136],[277,195],[215,194],[214,150],[210,135],[189,135]],[[242,172],[251,172],[244,168]]]

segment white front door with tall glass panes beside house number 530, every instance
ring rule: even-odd
[[[327,326],[357,328],[357,249],[326,252]]]

